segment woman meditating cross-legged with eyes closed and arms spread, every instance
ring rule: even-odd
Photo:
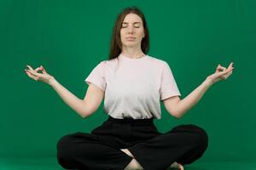
[[[89,85],[78,99],[50,76],[41,65],[30,65],[27,76],[48,83],[67,105],[83,118],[94,113],[104,98],[108,120],[91,133],[73,133],[60,139],[57,159],[68,169],[183,170],[207,150],[207,133],[195,125],[180,125],[158,132],[153,119],[160,119],[160,100],[172,116],[182,117],[213,83],[232,74],[233,63],[218,65],[186,98],[180,99],[171,68],[149,56],[149,34],[143,13],[125,8],[113,27],[109,59],[100,62],[85,79]],[[38,71],[42,71],[39,73]]]

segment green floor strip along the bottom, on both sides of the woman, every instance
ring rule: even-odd
[[[195,161],[185,170],[256,170],[256,161]],[[1,170],[62,170],[54,157],[0,158]]]

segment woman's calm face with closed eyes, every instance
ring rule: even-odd
[[[137,14],[126,14],[120,30],[122,45],[141,47],[144,36],[143,20]]]

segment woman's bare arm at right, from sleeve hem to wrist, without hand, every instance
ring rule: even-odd
[[[202,96],[207,92],[207,89],[211,87],[209,80],[201,83],[200,86],[195,88],[186,98],[180,100],[179,96],[174,96],[164,100],[166,110],[177,118],[182,117],[189,109],[191,109]]]

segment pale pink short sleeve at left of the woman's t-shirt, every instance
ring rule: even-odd
[[[101,88],[105,92],[106,78],[105,78],[105,67],[102,61],[90,72],[89,76],[84,79],[88,85],[91,83],[95,84],[96,87]]]

